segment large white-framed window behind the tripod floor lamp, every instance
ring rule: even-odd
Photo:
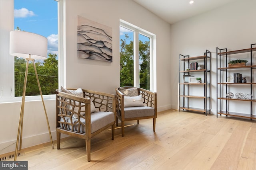
[[[48,39],[48,59],[36,61],[44,99],[55,99],[54,95],[46,94],[54,94],[58,84],[65,85],[64,2],[65,0],[0,0],[0,103],[21,100],[18,96],[22,94],[19,90],[24,83],[24,60],[14,58],[9,53],[10,31],[14,29],[37,33]],[[29,68],[32,68],[29,75],[33,76],[34,69],[31,66]],[[40,100],[40,96],[32,96],[39,95],[36,78],[28,81],[26,101]],[[32,81],[34,84],[30,84]]]

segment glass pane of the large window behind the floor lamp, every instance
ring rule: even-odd
[[[47,10],[46,10],[47,9]],[[42,94],[58,88],[58,2],[54,0],[14,0],[14,29],[47,37],[48,58],[35,60]],[[15,57],[15,96],[22,96],[26,61]],[[34,67],[29,64],[26,96],[40,95]]]

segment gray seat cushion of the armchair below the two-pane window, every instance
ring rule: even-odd
[[[139,106],[139,107],[124,107],[124,118],[154,116],[155,110],[153,107]]]

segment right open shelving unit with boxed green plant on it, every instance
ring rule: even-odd
[[[249,49],[241,49],[241,50],[236,50],[236,51],[227,51],[227,49],[220,49],[216,48],[216,60],[217,60],[217,117],[218,115],[226,115],[232,116],[232,117],[240,117],[240,118],[247,118],[247,119],[256,119],[256,113],[254,109],[254,102],[256,102],[255,95],[253,95],[254,90],[256,90],[256,72],[255,69],[256,63],[255,57],[256,53],[256,44],[251,44],[251,48]],[[250,54],[248,54],[250,53]],[[239,55],[236,55],[239,54]],[[228,67],[227,64],[229,60],[231,59],[237,59],[238,57],[242,57],[244,59],[248,60],[248,65],[246,66],[232,66]],[[250,81],[246,83],[244,82],[228,82],[228,74],[232,74],[233,70],[237,71],[243,71],[245,74],[247,74],[247,78],[250,79]],[[238,87],[239,86],[239,87]],[[242,87],[240,87],[242,86]],[[244,90],[246,91],[247,94],[250,94],[254,96],[254,98],[237,98],[234,94],[234,97],[228,98],[226,97],[227,93],[230,93],[230,89],[235,90],[238,92],[239,90]],[[234,103],[232,103],[234,102]],[[244,102],[249,102],[248,106],[250,108],[244,109],[242,112],[235,112],[230,108],[230,105],[236,105],[240,107],[244,107]],[[232,110],[232,111],[230,111]],[[249,111],[250,110],[250,111]]]

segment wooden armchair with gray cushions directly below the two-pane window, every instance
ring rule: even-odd
[[[116,88],[116,126],[121,120],[122,136],[124,136],[124,121],[153,119],[153,131],[156,130],[156,93],[143,88]]]

